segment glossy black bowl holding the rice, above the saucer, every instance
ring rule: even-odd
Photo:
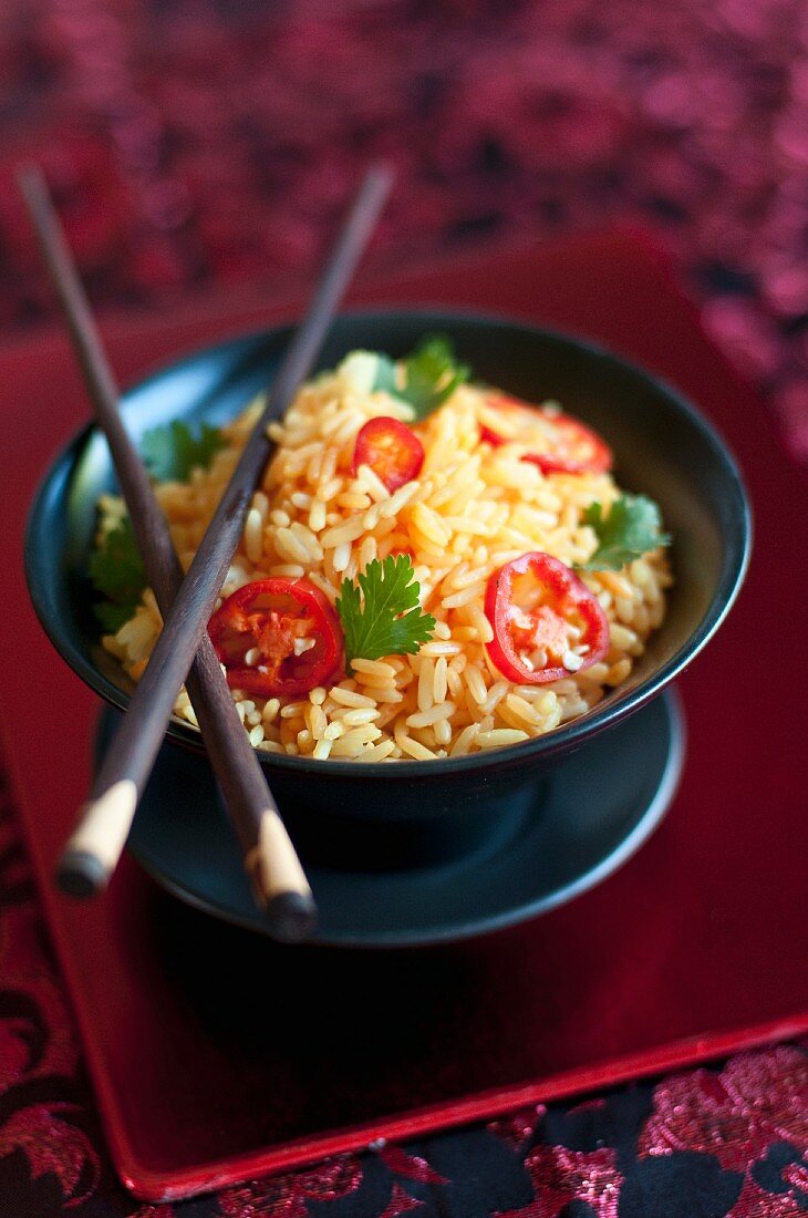
[[[557,398],[607,438],[619,485],[662,508],[674,538],[675,585],[666,620],[629,680],[588,715],[539,739],[400,765],[259,754],[293,832],[326,853],[348,839],[353,851],[358,826],[369,857],[382,845],[397,857],[473,845],[489,831],[493,811],[517,812],[520,799],[559,759],[615,728],[681,672],[720,625],[747,565],[750,510],[722,438],[673,389],[602,348],[504,318],[383,312],[341,317],[319,367],[333,367],[354,347],[400,356],[436,330],[453,339],[479,379],[527,400]],[[217,423],[234,415],[271,382],[288,336],[282,328],[231,339],[151,376],[124,397],[133,435],[175,418]],[[34,605],[57,650],[97,693],[125,708],[130,685],[100,647],[86,576],[96,503],[112,488],[106,442],[86,428],[57,457],[37,496],[26,564]],[[179,721],[170,722],[168,737],[202,749],[198,733]],[[428,834],[420,832],[425,825]]]

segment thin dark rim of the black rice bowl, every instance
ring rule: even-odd
[[[433,760],[408,759],[405,765],[394,766],[385,761],[358,762],[350,759],[326,759],[315,760],[310,756],[288,755],[279,753],[262,753],[258,750],[259,760],[269,770],[281,769],[298,773],[313,773],[320,777],[331,775],[336,777],[357,777],[365,775],[367,778],[381,778],[393,781],[426,780],[430,776],[462,773],[479,769],[507,769],[515,761],[535,762],[566,753],[576,745],[583,743],[591,736],[615,726],[627,715],[633,714],[644,706],[651,698],[656,697],[667,685],[669,685],[692,659],[698,655],[702,648],[709,642],[719,628],[741,590],[746,576],[752,549],[752,510],[750,498],[746,492],[744,477],[739,463],[726,441],[718,432],[717,428],[702,415],[701,410],[684,393],[670,385],[663,378],[643,368],[640,364],[612,351],[608,346],[594,341],[589,337],[571,334],[554,326],[535,325],[524,318],[518,318],[507,313],[487,313],[477,309],[430,307],[430,306],[383,306],[375,308],[348,309],[337,314],[336,323],[361,325],[363,323],[376,323],[383,319],[411,320],[422,325],[425,330],[451,326],[453,323],[477,323],[489,329],[521,330],[531,337],[546,337],[572,348],[584,352],[588,357],[606,361],[617,365],[621,370],[628,371],[632,376],[639,378],[650,385],[657,393],[672,401],[678,412],[685,415],[691,426],[700,432],[701,438],[712,451],[714,459],[722,466],[726,484],[733,493],[730,519],[735,524],[735,536],[733,544],[726,546],[723,554],[720,579],[718,587],[711,598],[706,613],[696,630],[688,636],[685,642],[674,654],[660,667],[641,681],[625,697],[617,694],[615,698],[606,698],[604,703],[596,705],[591,711],[555,728],[545,736],[538,736],[518,744],[510,744],[504,748],[486,750],[483,753],[471,753],[456,758],[436,758]],[[284,322],[268,328],[251,329],[247,331],[235,331],[228,337],[213,343],[204,343],[185,352],[176,359],[158,364],[147,375],[139,378],[120,393],[122,406],[125,408],[128,401],[136,393],[147,390],[169,373],[180,371],[184,367],[193,365],[201,358],[209,358],[217,352],[225,352],[234,343],[259,342],[269,337],[281,337],[291,334],[293,322]],[[44,523],[46,503],[50,496],[58,488],[57,484],[64,479],[69,480],[80,453],[89,443],[90,438],[97,434],[95,421],[88,423],[78,431],[67,445],[60,448],[51,459],[32,501],[26,524],[24,535],[24,569],[28,582],[29,596],[33,602],[37,616],[47,635],[50,642],[56,648],[62,659],[82,677],[82,680],[107,703],[118,710],[125,711],[130,694],[120,689],[105,674],[74,646],[69,637],[57,627],[57,618],[49,613],[47,581],[41,575],[41,563],[39,560],[39,533]],[[185,725],[172,719],[167,725],[167,738],[174,743],[189,747],[195,752],[204,752],[204,744],[198,731],[191,725]]]

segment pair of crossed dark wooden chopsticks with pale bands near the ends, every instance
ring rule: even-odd
[[[315,922],[312,890],[239,719],[207,622],[239,543],[243,519],[273,445],[266,425],[284,414],[312,370],[391,186],[386,167],[371,169],[327,262],[309,312],[294,334],[268,403],[236,465],[217,513],[185,575],[141,459],[123,425],[118,391],[75,264],[43,175],[19,174],[56,295],[64,314],[96,420],[107,436],[138,547],[163,616],[163,630],[129,710],[96,775],[89,803],[60,861],[60,885],[86,896],[114,870],[155,764],[176,694],[187,691],[211,764],[236,829],[245,866],[268,927],[279,939],[305,938]],[[169,814],[170,815],[170,814]]]

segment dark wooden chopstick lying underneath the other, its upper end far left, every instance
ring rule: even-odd
[[[112,369],[45,180],[38,169],[29,168],[19,174],[19,186],[67,322],[99,428],[110,445],[150,585],[159,610],[165,616],[183,582],[183,569],[165,518],[124,426]],[[187,689],[241,843],[245,867],[258,903],[265,911],[268,928],[275,938],[284,942],[303,939],[316,922],[312,889],[206,635],[202,636],[187,675]],[[74,895],[88,895],[105,881],[105,871],[116,861],[114,855],[101,856],[97,851],[79,860],[72,856],[69,865],[63,864],[60,871],[60,883]],[[89,882],[88,877],[95,877],[96,882]]]

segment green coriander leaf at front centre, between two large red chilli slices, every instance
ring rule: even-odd
[[[421,611],[409,554],[389,554],[383,563],[375,558],[359,576],[359,587],[343,580],[337,613],[348,666],[357,658],[414,655],[432,638],[434,618]]]

